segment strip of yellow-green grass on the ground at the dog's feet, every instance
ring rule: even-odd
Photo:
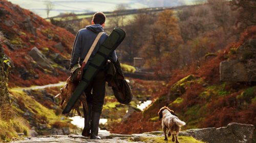
[[[193,137],[190,136],[179,136],[178,137],[179,142],[182,143],[204,143],[203,141],[196,140]],[[129,141],[133,141],[131,138]],[[168,141],[164,140],[164,136],[159,136],[159,137],[140,137],[139,140],[136,141],[142,141],[142,142],[147,142],[147,143],[165,143],[165,142],[173,142],[172,137],[168,137]]]

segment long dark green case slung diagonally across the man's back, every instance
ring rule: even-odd
[[[82,80],[77,85],[73,95],[71,96],[67,106],[62,111],[62,114],[69,113],[76,101],[84,90],[87,89],[90,82],[98,73],[99,67],[106,63],[106,60],[110,57],[112,52],[120,45],[125,38],[125,32],[118,27],[115,27],[109,37],[100,45],[98,52],[95,54],[93,60],[90,62],[88,69],[83,73]]]

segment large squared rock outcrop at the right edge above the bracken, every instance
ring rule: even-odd
[[[256,40],[244,42],[236,51],[237,59],[220,63],[221,81],[256,81]]]

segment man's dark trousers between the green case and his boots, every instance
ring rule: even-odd
[[[105,71],[100,70],[86,89],[87,102],[92,104],[94,112],[102,112],[105,97]]]

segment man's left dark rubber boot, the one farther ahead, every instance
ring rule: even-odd
[[[84,127],[82,130],[82,136],[90,136],[90,123],[92,119],[92,103],[87,102],[88,104],[88,112],[86,109],[83,108],[83,115],[84,115]]]

